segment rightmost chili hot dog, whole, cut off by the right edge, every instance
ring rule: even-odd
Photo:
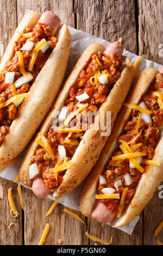
[[[163,71],[162,69],[160,70]],[[80,211],[112,227],[145,208],[162,178],[163,74],[143,70],[87,178]]]

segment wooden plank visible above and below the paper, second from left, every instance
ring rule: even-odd
[[[73,1],[71,0],[29,0],[27,2],[18,0],[18,21],[22,19],[26,9],[41,13],[46,10],[53,10],[62,22],[74,27]],[[33,192],[27,188],[22,189],[22,194],[24,201],[24,241],[26,245],[37,245],[39,243],[47,222],[51,225],[51,230],[49,231],[45,245],[58,245],[58,239],[61,239],[64,245],[82,245],[88,243],[87,237],[83,235],[86,229],[85,225],[63,212],[63,206],[58,204],[53,214],[45,217],[53,201],[36,198]]]

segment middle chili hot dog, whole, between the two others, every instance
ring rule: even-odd
[[[46,187],[42,198],[48,191],[60,197],[78,186],[96,163],[107,136],[94,129],[87,112],[111,111],[113,126],[133,79],[132,64],[122,53],[119,42],[106,49],[92,44],[79,58],[22,162],[20,178],[36,196],[40,178]],[[53,125],[57,111],[59,127]]]

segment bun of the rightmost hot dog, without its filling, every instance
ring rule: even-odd
[[[126,102],[137,105],[140,102],[142,95],[147,92],[149,86],[155,81],[155,76],[158,73],[159,71],[153,68],[143,70],[139,79],[131,89]],[[95,205],[95,194],[97,193],[99,174],[103,173],[106,168],[106,164],[116,150],[118,145],[117,138],[121,135],[131,111],[131,108],[127,108],[125,106],[122,108],[114,128],[112,129],[108,142],[106,142],[96,166],[92,169],[86,180],[80,197],[80,211],[87,217],[92,217],[92,209]],[[163,150],[162,142],[163,141],[161,139],[158,147],[155,149],[153,157],[153,160],[160,162],[161,165],[163,164],[163,160],[161,159]],[[110,225],[112,227],[121,227],[122,225],[128,224],[134,217],[139,215],[143,208],[148,204],[149,200],[151,200],[162,178],[163,173],[161,166],[149,166],[147,171],[142,174],[139,186],[136,188],[135,195],[128,206],[126,214],[122,215],[120,218],[114,217],[110,222]]]

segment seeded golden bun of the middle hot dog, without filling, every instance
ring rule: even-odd
[[[97,54],[99,51],[103,52],[105,48],[99,44],[91,44],[83,52],[82,56],[79,58],[76,66],[68,77],[64,84],[57,100],[54,102],[52,111],[48,114],[46,120],[44,121],[40,132],[47,132],[49,126],[53,123],[53,115],[56,111],[60,111],[61,107],[64,105],[65,99],[68,95],[69,89],[72,87],[74,82],[76,82],[80,71],[89,62],[93,54]],[[122,107],[122,103],[126,98],[128,90],[133,80],[133,69],[132,63],[127,57],[123,57],[124,62],[126,62],[126,67],[121,73],[121,77],[117,80],[114,88],[111,90],[107,100],[103,103],[99,111],[111,111],[111,127],[114,125],[117,113]],[[61,197],[64,194],[74,190],[80,182],[82,182],[86,175],[90,172],[93,165],[96,163],[101,150],[103,149],[107,137],[101,137],[101,132],[98,130],[89,129],[85,132],[82,141],[80,142],[75,154],[72,157],[73,165],[66,170],[64,179],[62,180],[60,186],[58,187],[54,197]],[[31,157],[34,155],[37,143],[32,142],[27,150],[27,154],[24,157],[22,166],[20,169],[20,178],[22,182],[28,186],[31,186],[31,181],[29,180],[29,166],[31,164]]]

